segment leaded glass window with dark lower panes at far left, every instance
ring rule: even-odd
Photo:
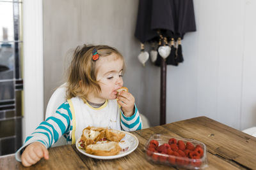
[[[0,155],[22,145],[21,9],[21,0],[0,0]]]

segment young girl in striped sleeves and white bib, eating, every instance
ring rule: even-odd
[[[124,58],[115,48],[78,46],[69,67],[67,102],[26,138],[16,152],[16,159],[24,166],[43,157],[49,159],[47,148],[62,135],[74,144],[89,125],[124,131],[141,129],[140,113],[132,94],[116,92],[123,86],[123,71]]]

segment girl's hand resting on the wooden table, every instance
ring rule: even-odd
[[[49,152],[42,143],[35,142],[29,144],[21,155],[23,166],[31,166],[38,162],[42,157],[49,159]]]

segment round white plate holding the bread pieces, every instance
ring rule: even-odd
[[[84,155],[86,155],[88,157],[95,158],[95,159],[116,159],[116,158],[124,157],[124,156],[132,153],[138,147],[139,140],[136,136],[134,136],[133,134],[131,134],[129,132],[125,132],[125,131],[122,131],[122,132],[125,133],[125,136],[118,143],[119,146],[122,148],[118,155],[97,156],[97,155],[92,155],[92,154],[86,153],[85,150],[83,150],[83,148],[79,145],[80,138],[77,139],[77,141],[76,141],[76,148],[77,148],[77,150],[79,150],[79,152],[83,153]]]

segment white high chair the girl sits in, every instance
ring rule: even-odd
[[[45,112],[45,119],[48,117],[51,117],[53,113],[58,109],[60,104],[64,103],[66,101],[66,83],[63,83],[58,89],[56,89],[51,98],[49,99],[49,102],[47,104],[46,112]],[[143,129],[150,127],[148,119],[140,113],[140,117],[143,124]],[[67,145],[67,139],[65,139],[63,136],[61,136],[60,139],[54,145],[54,146],[61,146],[61,145]]]

